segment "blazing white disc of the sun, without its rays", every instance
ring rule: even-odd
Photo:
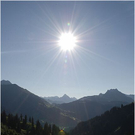
[[[76,46],[76,37],[70,32],[62,33],[58,43],[63,51],[71,51]]]

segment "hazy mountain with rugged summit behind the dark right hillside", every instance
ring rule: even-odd
[[[101,115],[114,106],[126,105],[131,102],[133,102],[133,99],[130,97],[127,97],[117,89],[111,89],[105,94],[87,96],[74,102],[57,106],[68,111],[72,117],[84,121]]]

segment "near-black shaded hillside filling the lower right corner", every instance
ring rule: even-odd
[[[79,123],[70,135],[133,135],[134,103]]]

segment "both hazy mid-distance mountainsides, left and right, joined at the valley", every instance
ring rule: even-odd
[[[77,123],[99,116],[114,106],[131,102],[132,98],[117,89],[111,89],[105,94],[54,105],[16,84],[1,81],[2,110],[13,114],[26,114],[43,123],[54,123],[63,127],[74,127]]]

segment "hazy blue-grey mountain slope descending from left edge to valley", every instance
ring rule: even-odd
[[[42,122],[54,123],[59,126],[77,124],[77,121],[68,116],[66,111],[52,106],[44,99],[16,84],[1,85],[1,106],[2,110],[6,112],[26,114]]]

